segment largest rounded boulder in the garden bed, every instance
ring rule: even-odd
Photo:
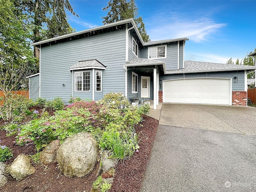
[[[56,154],[61,172],[70,177],[82,177],[90,173],[97,158],[97,142],[90,133],[86,132],[67,138]]]

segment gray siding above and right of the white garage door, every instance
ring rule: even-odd
[[[238,77],[238,82],[234,82],[234,76]],[[244,91],[244,71],[172,74],[172,75],[160,76],[160,79],[172,80],[172,79],[180,79],[180,78],[200,78],[200,77],[232,78],[232,91]]]

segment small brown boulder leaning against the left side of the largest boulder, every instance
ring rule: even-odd
[[[40,153],[40,161],[43,164],[56,162],[56,151],[60,147],[60,140],[53,140]]]

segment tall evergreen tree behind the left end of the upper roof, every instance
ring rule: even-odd
[[[74,32],[68,24],[66,10],[78,15],[69,0],[17,0],[16,2],[16,6],[29,16],[27,23],[32,24],[33,42]],[[35,56],[39,58],[38,49],[35,49]]]

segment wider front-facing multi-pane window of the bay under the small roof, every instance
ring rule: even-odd
[[[75,72],[75,91],[90,91],[90,71]]]

